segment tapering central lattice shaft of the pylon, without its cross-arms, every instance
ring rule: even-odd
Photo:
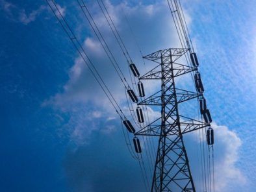
[[[172,54],[166,60],[160,52],[161,60],[161,135],[157,150],[157,160],[151,191],[195,191],[188,165],[183,136],[179,123],[179,112],[173,72]],[[170,68],[171,78],[166,78],[166,66]],[[171,102],[166,95],[170,95]],[[171,109],[171,110],[170,110]],[[173,121],[167,126],[167,121]],[[169,130],[177,130],[177,134],[167,136]]]

